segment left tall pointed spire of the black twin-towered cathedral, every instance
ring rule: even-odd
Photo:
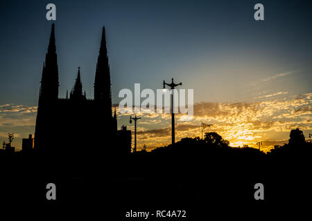
[[[48,52],[42,70],[40,99],[58,99],[58,56],[56,55],[54,23],[51,28]]]

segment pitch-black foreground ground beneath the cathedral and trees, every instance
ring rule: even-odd
[[[20,154],[1,156],[0,180],[2,209],[87,214],[90,220],[144,220],[125,218],[131,210],[186,211],[187,216],[148,220],[214,215],[254,220],[311,208],[311,155]],[[56,200],[46,200],[48,183],[56,185]],[[254,199],[256,183],[264,185],[264,200]]]

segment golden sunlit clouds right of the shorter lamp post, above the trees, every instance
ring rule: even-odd
[[[255,146],[257,141],[262,140],[263,148],[268,151],[275,141],[281,144],[281,140],[283,142],[287,140],[289,132],[294,128],[299,127],[304,131],[312,130],[311,95],[312,93],[306,93],[288,99],[262,102],[197,103],[194,104],[194,116],[191,121],[182,122],[182,117],[186,115],[176,115],[176,140],[187,136],[200,136],[201,122],[205,122],[214,125],[206,128],[205,132],[217,132],[234,146],[243,144]],[[141,117],[138,144],[141,146],[144,143],[156,146],[170,144],[170,114],[149,113],[141,114]],[[155,124],[150,119],[154,119]],[[271,135],[270,138],[268,135]],[[272,136],[276,137],[276,140],[272,140]]]

